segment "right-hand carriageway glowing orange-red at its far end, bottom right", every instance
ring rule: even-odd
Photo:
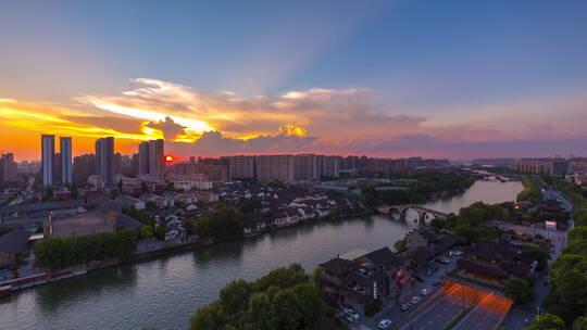
[[[511,302],[494,294],[487,294],[479,304],[461,320],[454,330],[492,330],[499,326],[502,316],[510,309]]]

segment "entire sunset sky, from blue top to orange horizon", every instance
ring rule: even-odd
[[[279,2],[279,3],[277,3]],[[5,1],[0,150],[587,155],[587,1]]]

